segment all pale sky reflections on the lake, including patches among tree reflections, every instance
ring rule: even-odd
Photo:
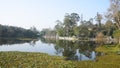
[[[49,55],[62,56],[64,49],[62,48],[60,50],[60,53],[58,53],[54,48],[54,44],[42,43],[41,41],[37,41],[35,44],[32,42],[23,43],[23,44],[13,44],[13,45],[5,44],[0,46],[0,51],[41,52],[41,53],[47,53]],[[76,50],[75,56],[78,57],[78,60],[94,60],[96,57],[94,51],[91,52],[89,58],[84,54],[80,53],[79,49]]]

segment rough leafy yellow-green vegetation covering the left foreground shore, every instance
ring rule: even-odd
[[[70,68],[74,65],[65,61],[63,57],[42,53],[0,52],[0,66],[3,68]]]

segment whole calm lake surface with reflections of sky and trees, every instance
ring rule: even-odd
[[[96,44],[92,41],[0,39],[0,51],[40,52],[65,56],[67,60],[95,60],[98,55],[94,51],[95,47]]]

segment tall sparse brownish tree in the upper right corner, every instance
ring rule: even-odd
[[[120,0],[110,0],[110,7],[106,14],[106,18],[109,20],[112,19],[120,30]]]

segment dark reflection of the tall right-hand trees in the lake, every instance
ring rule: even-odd
[[[96,44],[93,41],[63,41],[63,40],[50,40],[42,39],[44,43],[54,43],[56,54],[61,54],[66,60],[95,60]]]

